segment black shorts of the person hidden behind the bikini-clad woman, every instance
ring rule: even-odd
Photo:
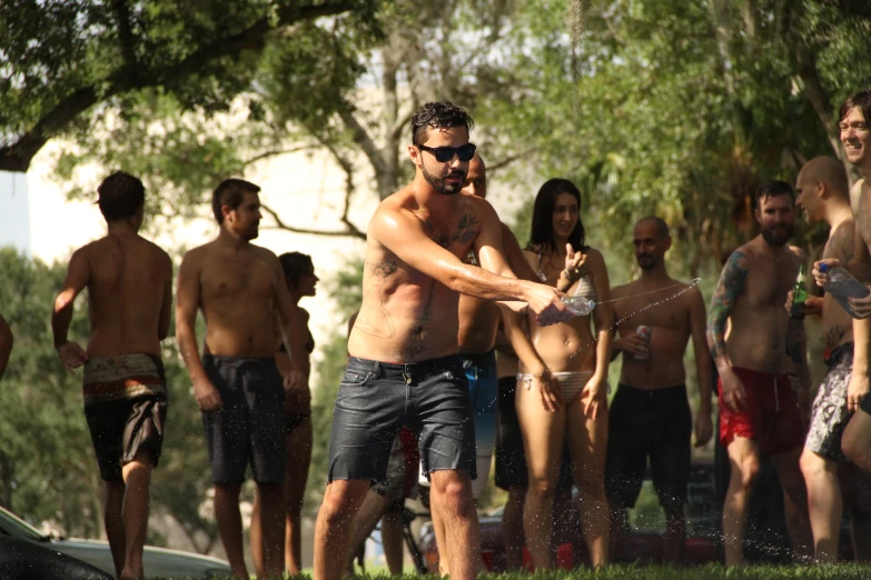
[[[529,468],[523,448],[523,432],[517,420],[514,398],[517,391],[516,377],[499,378],[498,407],[496,409],[496,473],[495,483],[505,491],[511,488],[526,488],[529,484]],[[557,490],[572,488],[572,458],[568,446],[563,446]]]

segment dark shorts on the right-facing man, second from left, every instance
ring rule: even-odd
[[[224,407],[202,412],[215,483],[243,483],[248,461],[258,483],[285,480],[285,389],[275,359],[202,357]]]

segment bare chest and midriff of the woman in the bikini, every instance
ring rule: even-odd
[[[584,253],[588,257],[587,264],[591,272],[594,270],[596,262],[604,264],[602,254],[597,250],[587,248]],[[545,254],[540,264],[537,252],[524,250],[524,256],[526,256],[526,260],[534,270],[545,274],[546,281],[544,283],[556,286],[556,281],[558,280],[560,272],[563,268],[562,260],[555,257],[550,259]],[[590,279],[593,280],[592,273],[590,274]],[[582,281],[583,279],[576,281],[565,293],[573,296]],[[573,318],[568,322],[562,322],[550,327],[540,327],[535,323],[534,319],[529,317],[529,340],[535,347],[536,352],[538,352],[538,356],[542,358],[542,361],[544,361],[551,371],[592,372],[596,368],[596,346],[593,341],[591,322],[591,317],[586,316]],[[528,372],[528,369],[521,363],[521,371]]]

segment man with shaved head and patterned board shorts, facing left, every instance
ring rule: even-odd
[[[855,224],[843,166],[828,157],[812,159],[799,173],[795,196],[795,203],[804,210],[808,222],[829,223],[823,259],[848,262],[853,252]],[[792,304],[788,302],[788,306]],[[868,560],[871,557],[871,506],[860,497],[868,494],[871,479],[858,469],[847,473],[847,481],[839,477],[839,471],[853,467],[841,451],[841,436],[853,414],[847,406],[847,390],[853,370],[852,318],[831,294],[822,300],[822,333],[828,372],[813,401],[811,428],[801,456],[814,558],[819,561],[838,559],[843,511],[841,488],[845,487],[853,490],[847,499],[851,508],[855,559]]]

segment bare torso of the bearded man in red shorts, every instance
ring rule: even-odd
[[[801,259],[786,246],[766,251],[763,244],[760,236],[735,250],[746,257],[748,274],[730,314],[726,352],[733,367],[785,374],[791,366],[784,304]]]

